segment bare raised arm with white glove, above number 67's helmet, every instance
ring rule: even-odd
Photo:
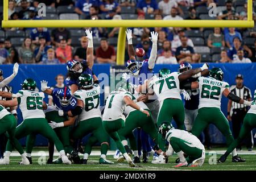
[[[93,67],[94,63],[94,56],[93,56],[93,36],[92,31],[89,31],[88,29],[85,30],[86,38],[88,38],[88,47],[86,49],[86,61],[87,65],[90,69]]]

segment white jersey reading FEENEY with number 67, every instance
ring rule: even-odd
[[[76,99],[81,100],[84,103],[84,109],[79,115],[79,121],[101,117],[100,93],[101,89],[97,84],[93,84],[92,89],[77,90],[74,93]]]

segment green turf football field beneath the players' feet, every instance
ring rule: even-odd
[[[224,149],[224,148],[221,148]],[[217,159],[221,156],[220,154],[224,151],[220,148],[214,148],[214,151],[217,152]],[[65,165],[65,164],[47,164],[47,165],[39,165],[38,159],[39,156],[32,156],[33,164],[28,166],[19,165],[18,162],[20,161],[20,156],[11,156],[10,158],[10,165],[0,165],[0,171],[10,171],[10,170],[46,170],[46,171],[53,171],[53,170],[67,170],[67,171],[80,171],[80,170],[93,170],[93,171],[166,171],[166,170],[207,170],[207,171],[224,171],[224,170],[256,170],[256,153],[242,151],[239,152],[240,156],[246,159],[245,163],[232,163],[232,155],[229,155],[229,158],[226,160],[225,163],[217,163],[214,164],[214,156],[209,155],[209,151],[206,152],[206,159],[202,167],[196,168],[174,168],[175,159],[177,159],[176,154],[169,158],[168,164],[151,164],[152,156],[148,163],[140,163],[138,167],[130,168],[127,163],[117,163],[116,160],[113,158],[113,155],[108,155],[107,158],[115,162],[115,164],[98,164],[99,156],[92,155],[89,157],[88,164],[72,164],[72,165]],[[57,158],[57,156],[55,156]],[[82,156],[81,156],[82,158]],[[210,160],[209,160],[210,159]],[[217,160],[216,159],[216,160]],[[46,156],[47,160],[47,156]],[[42,160],[40,160],[42,161]],[[209,164],[213,163],[213,164]]]

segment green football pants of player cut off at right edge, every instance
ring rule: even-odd
[[[237,139],[235,139],[230,144],[228,150],[225,152],[225,155],[228,156],[255,127],[256,127],[256,114],[247,113],[245,115],[245,118],[243,119],[243,125],[241,127],[241,130]]]

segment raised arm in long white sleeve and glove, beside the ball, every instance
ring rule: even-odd
[[[158,53],[158,32],[150,32],[151,41],[152,41],[152,49],[150,52],[150,57],[148,59],[148,68],[153,69],[155,67],[156,56]]]

